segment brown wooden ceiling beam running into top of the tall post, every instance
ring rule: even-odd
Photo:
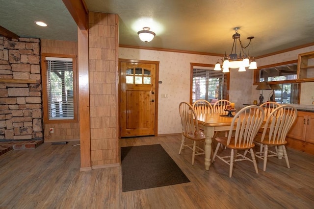
[[[88,29],[88,9],[84,0],[62,0],[69,10],[78,28],[81,30]]]

